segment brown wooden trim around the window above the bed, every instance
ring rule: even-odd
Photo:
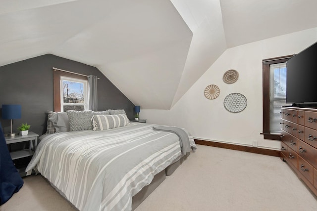
[[[59,70],[53,70],[53,83],[54,83],[54,111],[60,112],[61,111],[61,77],[67,77],[67,78],[73,78],[73,79],[79,79],[87,81],[88,86],[88,79],[86,76],[77,75],[74,73],[59,71]],[[87,92],[88,94],[88,92]],[[86,96],[86,100],[88,99],[88,96]],[[88,102],[86,101],[86,104],[88,105]],[[85,106],[85,110],[87,107]]]

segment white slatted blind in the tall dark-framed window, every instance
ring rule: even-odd
[[[286,62],[271,64],[269,77],[269,129],[280,133],[281,106],[286,103]]]

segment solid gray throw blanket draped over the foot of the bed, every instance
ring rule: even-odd
[[[180,127],[169,127],[169,126],[153,126],[154,130],[164,131],[164,132],[173,132],[179,137],[180,146],[182,148],[182,154],[190,152],[190,143],[189,137],[185,130]]]

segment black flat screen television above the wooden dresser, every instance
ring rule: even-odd
[[[286,62],[286,103],[317,107],[317,42]]]

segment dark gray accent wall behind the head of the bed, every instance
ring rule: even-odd
[[[22,118],[13,120],[13,131],[22,123],[31,125],[38,134],[46,132],[47,110],[53,111],[53,67],[84,75],[95,75],[98,80],[98,110],[124,109],[129,119],[134,118],[134,104],[113,85],[98,68],[53,54],[46,54],[0,67],[0,107],[20,104]],[[0,119],[4,133],[11,130],[11,121]]]

